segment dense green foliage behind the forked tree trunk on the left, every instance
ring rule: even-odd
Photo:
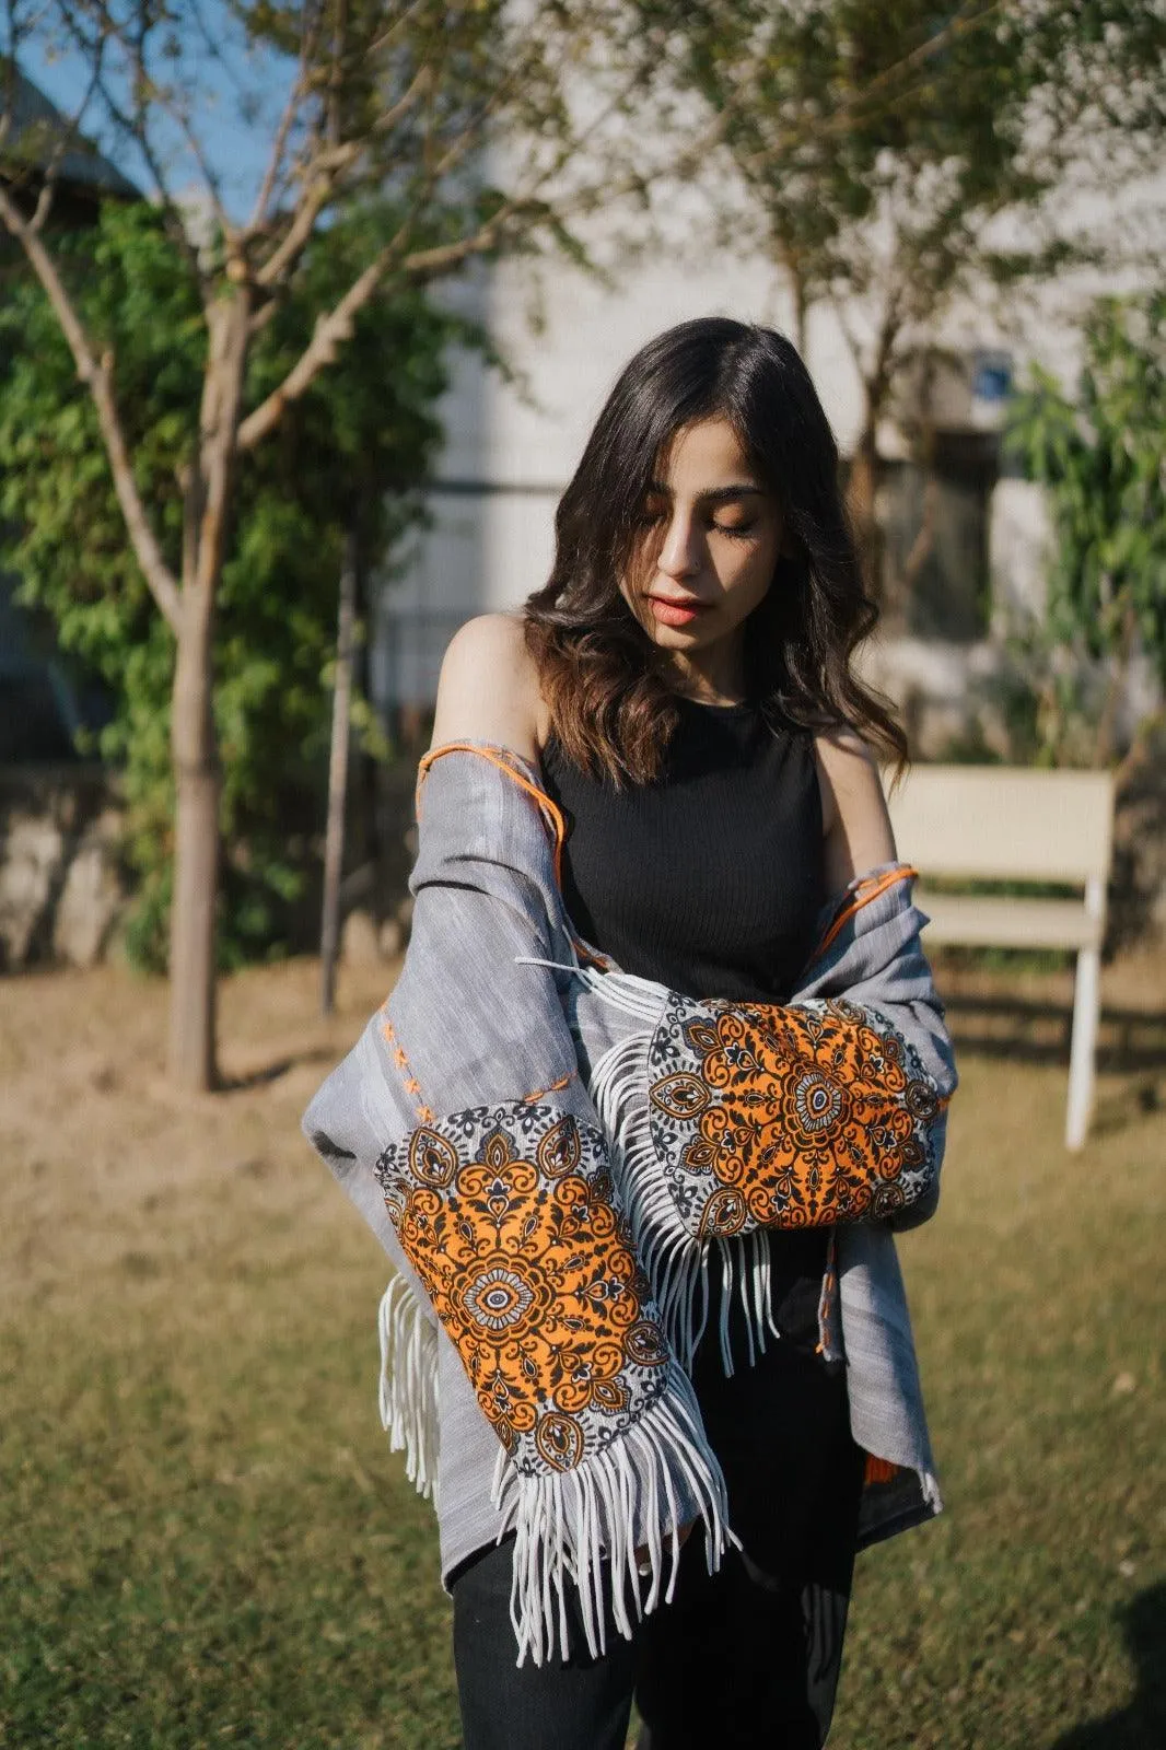
[[[247,404],[285,376],[315,312],[352,284],[371,220],[348,212],[312,245],[294,289],[256,338]],[[58,240],[82,320],[116,357],[135,478],[168,564],[180,569],[182,472],[196,446],[207,327],[189,271],[154,208],[107,206],[93,233]],[[305,886],[331,700],[345,530],[366,551],[418,520],[439,427],[443,354],[462,326],[394,290],[355,320],[336,362],[240,460],[215,630],[215,726],[224,772],[221,959],[278,950]],[[61,644],[110,686],[102,754],[124,768],[126,854],[138,877],[130,952],[165,962],[170,906],[173,637],[133,558],[96,413],[42,292],[0,304],[0,560]]]

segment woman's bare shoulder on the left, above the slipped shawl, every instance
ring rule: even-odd
[[[543,704],[518,614],[478,614],[450,639],[438,681],[432,746],[497,742],[537,760]]]

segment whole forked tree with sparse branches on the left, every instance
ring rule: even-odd
[[[93,401],[128,542],[173,640],[170,1071],[187,1087],[215,1078],[214,648],[217,618],[229,614],[242,458],[273,441],[375,298],[506,248],[571,247],[576,215],[636,187],[611,154],[627,145],[618,117],[643,94],[644,72],[625,74],[609,24],[606,0],[7,0],[7,66],[40,46],[70,58],[84,86],[35,173],[9,164],[0,178],[0,220]],[[587,93],[583,119],[576,84]],[[231,166],[215,161],[224,91],[236,93],[236,128],[266,149],[245,217]],[[0,152],[11,121],[12,79],[0,66]],[[114,336],[82,308],[49,226],[82,122],[142,166],[196,298],[201,374],[173,413],[180,528],[158,522]],[[327,275],[312,282],[308,262],[313,240],[331,242],[341,206],[357,206],[364,222],[338,289]],[[256,345],[292,292],[313,320],[273,378]]]

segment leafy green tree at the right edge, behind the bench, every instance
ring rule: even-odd
[[[1035,369],[1008,439],[1049,495],[1047,639],[1108,668],[1092,746],[1106,766],[1136,653],[1166,691],[1166,292],[1101,299],[1077,394]]]

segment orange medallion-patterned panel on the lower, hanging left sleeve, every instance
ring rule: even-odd
[[[574,1470],[665,1390],[667,1346],[597,1129],[550,1104],[474,1106],[392,1143],[376,1178],[520,1472]]]

